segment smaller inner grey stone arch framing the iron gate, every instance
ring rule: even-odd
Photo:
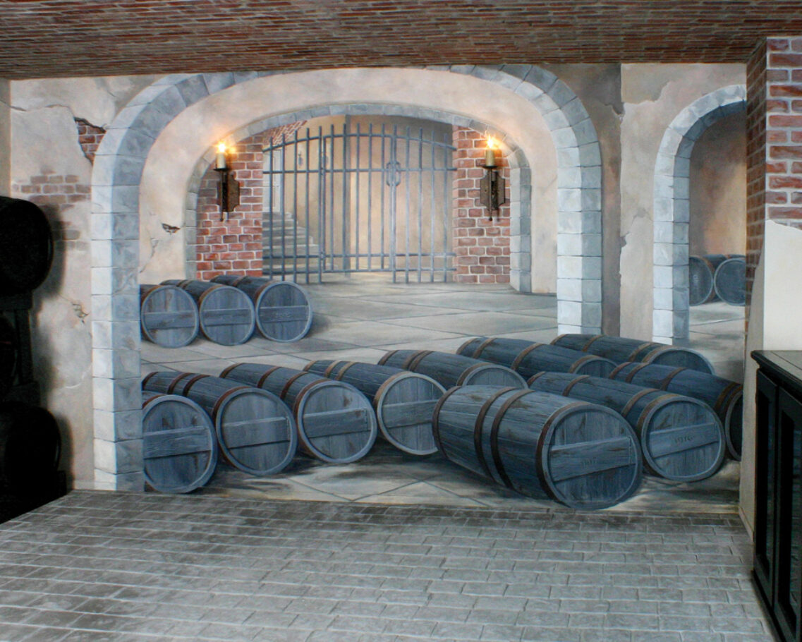
[[[325,114],[323,112],[326,112]],[[504,153],[509,164],[510,183],[515,185],[514,193],[510,197],[510,229],[517,230],[516,234],[510,234],[510,244],[515,248],[512,254],[516,255],[516,264],[522,266],[530,266],[532,264],[532,244],[531,242],[520,241],[521,230],[521,213],[530,212],[532,210],[531,194],[532,194],[532,172],[529,168],[529,160],[527,160],[524,152],[517,147],[514,141],[510,140],[504,132],[500,132],[487,123],[480,122],[468,118],[468,116],[459,116],[450,112],[440,112],[435,109],[411,107],[408,105],[387,105],[387,104],[338,104],[334,107],[322,106],[316,110],[317,116],[342,116],[349,114],[352,116],[406,116],[408,118],[416,118],[419,120],[430,120],[438,123],[446,123],[458,127],[466,127],[474,129],[478,132],[487,132],[488,136],[493,136],[500,143],[501,151]],[[262,118],[245,127],[231,132],[225,136],[223,142],[227,145],[235,145],[239,140],[248,136],[253,136],[254,132],[265,132],[268,129],[281,127],[282,125],[297,123],[299,120],[305,120],[307,114],[300,114],[297,112],[290,112],[280,114],[278,116],[269,116]],[[196,234],[197,228],[197,199],[198,193],[201,188],[201,180],[204,177],[209,166],[213,163],[214,157],[212,152],[207,152],[195,165],[192,171],[192,177],[189,181],[187,189],[187,209],[184,214],[185,229],[187,230],[187,270],[186,278],[195,278],[197,270],[195,267],[197,251],[196,251]],[[528,221],[527,221],[528,222]],[[523,226],[526,229],[526,225]],[[520,292],[531,292],[531,278],[527,272],[523,276],[517,275],[517,280],[514,286]],[[525,271],[525,270],[523,270]]]

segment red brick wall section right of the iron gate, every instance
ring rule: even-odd
[[[509,206],[488,220],[488,210],[479,201],[479,181],[484,176],[484,134],[454,127],[454,217],[453,238],[458,283],[509,282]],[[509,200],[509,165],[500,152],[496,163],[505,181]]]

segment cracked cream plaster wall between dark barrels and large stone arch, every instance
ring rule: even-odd
[[[26,185],[30,177],[55,173],[77,176],[80,185],[88,186],[91,162],[79,146],[75,118],[103,126],[132,95],[151,82],[151,77],[134,77],[10,83],[10,183]],[[0,138],[0,160],[3,156]],[[19,190],[11,195],[30,197]],[[91,488],[91,202],[87,198],[71,205],[42,207],[57,232],[57,243],[51,272],[34,291],[34,376],[42,388],[43,406],[59,422],[64,442],[62,469],[67,470],[74,486]],[[71,230],[67,244],[59,242],[61,226]]]

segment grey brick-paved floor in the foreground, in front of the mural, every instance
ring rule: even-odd
[[[0,525],[0,640],[764,642],[735,514],[74,491]]]

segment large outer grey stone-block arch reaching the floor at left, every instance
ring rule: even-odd
[[[328,70],[338,74],[346,70]],[[414,72],[415,70],[406,70]],[[557,320],[560,331],[598,332],[602,326],[602,168],[596,130],[581,101],[549,71],[528,65],[424,67],[469,75],[529,101],[543,116],[557,150]],[[298,72],[303,75],[305,72]],[[366,72],[367,73],[367,72]],[[382,74],[383,70],[370,73]],[[389,73],[389,72],[388,72]],[[95,425],[95,485],[140,489],[139,218],[140,181],[160,132],[184,110],[269,73],[168,75],[119,112],[107,128],[92,170],[91,293]],[[295,74],[279,74],[291,78]],[[349,87],[359,91],[360,87]],[[414,92],[411,92],[414,94]],[[267,95],[265,100],[280,100]],[[391,101],[388,101],[391,102]],[[402,101],[414,104],[414,95]],[[265,110],[266,112],[267,110]],[[426,110],[426,106],[423,107]],[[454,112],[459,112],[455,106]],[[310,108],[294,116],[314,117]],[[251,130],[253,131],[253,130]],[[203,141],[211,149],[217,140]],[[202,154],[198,154],[201,156]],[[211,159],[209,159],[211,160]],[[528,172],[519,166],[516,171]],[[528,289],[531,221],[529,176],[512,181],[511,280]],[[512,221],[511,221],[512,222]]]

